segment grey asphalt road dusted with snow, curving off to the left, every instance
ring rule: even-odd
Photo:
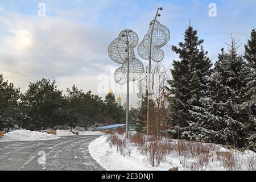
[[[98,135],[66,136],[56,140],[0,142],[0,171],[104,170],[89,154]]]

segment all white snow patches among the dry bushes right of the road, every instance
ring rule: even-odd
[[[110,148],[109,143],[106,142],[107,136],[102,136],[97,138],[93,142],[89,144],[90,155],[101,164],[107,170],[127,170],[127,171],[150,171],[150,170],[158,170],[158,171],[168,171],[168,169],[172,167],[179,167],[179,171],[185,170],[185,168],[181,165],[182,157],[178,154],[170,154],[167,157],[166,162],[161,163],[158,168],[153,168],[148,164],[142,155],[137,152],[137,148],[133,147],[131,149],[131,155],[123,156],[118,154],[117,151]],[[220,146],[219,146],[220,147]],[[225,148],[220,147],[220,151],[229,151]],[[238,152],[236,151],[236,155],[240,158],[240,162],[243,163],[247,159],[248,156],[255,156],[256,154],[252,151]],[[256,158],[254,158],[256,159]],[[190,159],[188,159],[190,160]],[[125,164],[125,165],[124,165]],[[242,164],[242,170],[246,170],[246,164]],[[214,163],[210,163],[207,166],[207,171],[224,171],[225,169],[221,166],[220,162],[216,160]]]

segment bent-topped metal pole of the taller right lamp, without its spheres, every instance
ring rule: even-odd
[[[158,8],[159,11],[160,8]],[[158,11],[156,11],[155,19],[152,24],[152,33],[150,35],[150,50],[149,50],[149,63],[148,63],[148,81],[147,81],[147,137],[148,137],[148,127],[149,127],[149,114],[150,114],[150,96],[152,94],[151,92],[151,52],[152,52],[152,38],[153,38],[153,32],[155,28],[155,20],[158,17]]]

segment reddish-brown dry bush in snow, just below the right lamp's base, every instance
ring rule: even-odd
[[[158,167],[161,162],[166,162],[170,154],[170,143],[148,142],[143,147],[143,156],[152,167]]]

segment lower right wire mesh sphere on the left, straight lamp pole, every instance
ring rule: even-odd
[[[132,61],[129,61],[130,71],[129,71],[129,80],[136,81],[139,80],[144,73],[144,67],[140,60],[134,58]],[[123,63],[121,67],[123,73],[128,72],[128,62]],[[127,76],[126,76],[127,77]]]

